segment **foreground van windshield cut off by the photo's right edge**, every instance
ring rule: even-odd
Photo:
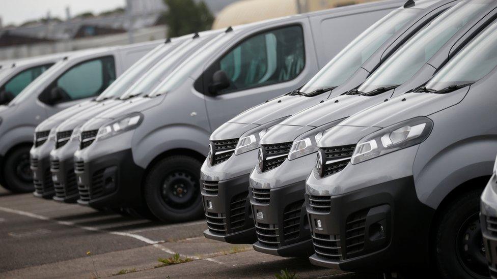
[[[483,78],[495,67],[497,67],[497,22],[456,54],[425,87],[433,91],[468,85]]]

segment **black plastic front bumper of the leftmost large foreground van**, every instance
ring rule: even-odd
[[[206,238],[234,244],[257,241],[248,200],[248,177],[222,181],[200,181],[208,229]]]

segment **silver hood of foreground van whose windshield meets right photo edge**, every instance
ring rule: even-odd
[[[417,116],[428,116],[454,106],[464,99],[470,87],[447,94],[406,93],[369,107],[340,123],[340,126],[385,128]]]

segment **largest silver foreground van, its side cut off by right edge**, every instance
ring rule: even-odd
[[[497,150],[496,66],[492,23],[416,91],[323,135],[306,181],[313,264],[489,277],[479,204]]]

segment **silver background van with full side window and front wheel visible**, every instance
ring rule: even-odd
[[[146,204],[161,220],[197,218],[203,211],[199,172],[212,131],[298,88],[398,5],[348,6],[228,28],[149,95],[85,123],[74,153],[78,203]],[[342,25],[350,28],[336,27]]]

